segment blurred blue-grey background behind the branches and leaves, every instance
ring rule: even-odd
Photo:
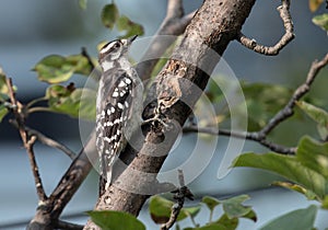
[[[96,56],[96,45],[104,39],[117,37],[117,31],[106,30],[101,22],[101,11],[108,1],[94,0],[81,10],[78,1],[19,0],[1,2],[0,7],[0,67],[17,87],[17,97],[26,103],[44,95],[46,83],[39,82],[36,73],[31,71],[35,64],[50,54],[62,56],[80,54],[86,47]],[[165,16],[166,1],[139,0],[115,1],[121,14],[144,26],[145,35],[152,36]],[[185,0],[186,13],[198,9],[201,0]],[[273,45],[283,34],[283,26],[276,8],[279,1],[257,1],[243,32],[265,45]],[[223,58],[238,79],[248,82],[276,83],[295,89],[306,77],[313,60],[320,59],[328,50],[327,34],[312,23],[312,18],[323,13],[324,8],[311,13],[307,1],[292,2],[291,12],[294,22],[295,39],[277,57],[255,54],[238,43],[233,42]],[[320,101],[320,106],[328,108],[327,68],[317,78],[311,95]],[[324,78],[326,77],[326,78]],[[73,77],[71,81],[79,79]],[[33,217],[37,207],[34,180],[28,159],[15,128],[9,125],[7,117],[0,124],[0,229],[23,229]],[[35,113],[28,117],[27,125],[47,136],[63,142],[79,152],[81,140],[78,120],[65,115]],[[283,135],[282,135],[283,134]],[[290,120],[282,124],[273,138],[288,146],[296,145],[304,134],[317,137],[315,124],[308,118]],[[216,179],[220,150],[224,149],[227,138],[220,138],[215,157],[190,185],[196,196],[212,195],[219,198],[247,193],[251,199],[248,205],[257,211],[258,221],[243,220],[238,229],[257,229],[273,217],[296,208],[305,208],[309,203],[301,195],[281,188],[270,188],[269,184],[278,180],[276,175],[262,171],[237,169],[223,180]],[[189,135],[180,140],[176,153],[165,162],[169,168],[177,156],[186,157],[186,148],[194,141]],[[191,145],[192,146],[192,145]],[[246,142],[244,151],[266,152],[260,146]],[[46,191],[50,193],[70,164],[70,159],[61,152],[37,145],[39,171]],[[67,220],[84,223],[83,211],[93,208],[97,194],[97,174],[92,172],[73,200],[65,210]],[[220,211],[220,210],[219,210]],[[319,211],[316,227],[328,226],[328,212]],[[203,217],[208,216],[203,214]],[[140,215],[149,229],[156,229],[150,220],[147,208]],[[204,222],[199,216],[197,221]],[[186,225],[190,222],[186,221]]]

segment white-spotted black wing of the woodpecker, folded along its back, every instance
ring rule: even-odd
[[[106,82],[104,84],[106,85]],[[116,78],[112,78],[105,102],[99,102],[103,108],[98,111],[97,124],[102,126],[96,128],[96,133],[97,148],[101,153],[101,193],[110,182],[112,166],[121,151],[122,142],[126,141],[124,129],[131,113],[132,91],[132,79],[120,71],[116,73]]]

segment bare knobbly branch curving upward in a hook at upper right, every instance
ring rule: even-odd
[[[281,0],[281,5],[277,9],[280,13],[280,18],[283,21],[283,26],[285,30],[284,35],[274,46],[263,46],[257,44],[255,39],[246,37],[242,32],[237,35],[237,41],[254,51],[262,55],[278,55],[279,51],[285,47],[294,38],[293,22],[290,13],[290,0]]]

